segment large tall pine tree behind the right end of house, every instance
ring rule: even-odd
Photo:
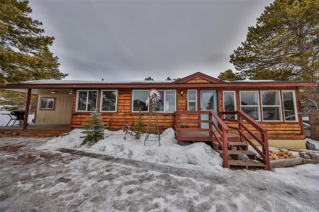
[[[316,81],[316,88],[305,88],[301,96],[319,104],[319,0],[275,0],[266,6],[230,62],[252,80]],[[318,117],[319,111],[309,115]],[[312,139],[319,140],[313,136],[319,122],[310,125]]]

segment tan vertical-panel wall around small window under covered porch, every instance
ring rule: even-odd
[[[40,108],[41,98],[55,98],[53,110],[44,110]],[[39,95],[37,101],[37,112],[35,123],[42,124],[70,124],[71,120],[71,95]]]

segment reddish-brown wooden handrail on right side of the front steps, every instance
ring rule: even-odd
[[[270,160],[269,160],[269,150],[268,150],[268,129],[258,123],[255,119],[247,115],[243,111],[223,111],[220,112],[220,116],[223,117],[225,114],[234,114],[235,119],[222,118],[223,121],[228,123],[236,123],[237,126],[229,126],[230,129],[235,129],[238,131],[241,141],[247,141],[263,158],[263,163],[266,165],[266,169],[270,170]],[[256,133],[252,132],[246,125],[250,124],[253,128],[260,132],[260,137]],[[255,139],[262,147],[262,151],[248,138],[247,133]]]

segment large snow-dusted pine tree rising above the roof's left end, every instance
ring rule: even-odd
[[[27,80],[62,79],[58,58],[49,51],[54,37],[44,36],[32,20],[27,0],[0,1],[0,85]]]

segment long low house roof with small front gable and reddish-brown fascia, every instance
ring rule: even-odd
[[[132,88],[132,89],[176,89],[176,88],[243,88],[243,89],[258,89],[258,88],[296,88],[316,86],[316,82],[296,82],[296,81],[273,81],[273,80],[258,80],[258,81],[221,81],[200,72],[184,77],[177,81],[81,81],[81,80],[34,80],[21,83],[9,83],[1,89],[25,92],[25,89],[99,89],[99,88]]]

